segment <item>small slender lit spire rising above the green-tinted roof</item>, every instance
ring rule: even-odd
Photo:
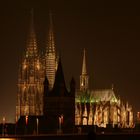
[[[84,49],[82,74],[80,75],[80,90],[81,91],[85,91],[88,89],[88,79],[89,79],[89,76],[87,74],[87,68],[86,68],[86,52]]]

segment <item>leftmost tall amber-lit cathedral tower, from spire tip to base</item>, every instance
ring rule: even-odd
[[[17,119],[20,116],[43,114],[43,81],[44,71],[38,54],[32,10],[27,48],[19,69]]]

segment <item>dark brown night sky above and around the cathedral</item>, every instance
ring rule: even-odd
[[[4,0],[3,0],[4,1]],[[79,88],[86,49],[91,89],[111,88],[140,111],[139,0],[9,0],[0,1],[0,122],[15,120],[18,67],[26,48],[30,11],[39,51],[45,50],[49,11],[55,43],[61,52],[67,86]]]

